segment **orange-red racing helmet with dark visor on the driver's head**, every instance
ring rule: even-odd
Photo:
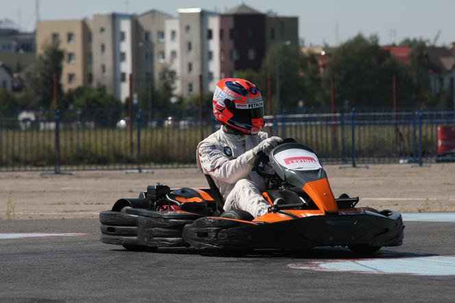
[[[214,117],[244,134],[258,134],[264,127],[264,101],[258,86],[238,78],[217,83],[213,94]]]

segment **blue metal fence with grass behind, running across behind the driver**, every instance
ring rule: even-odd
[[[119,117],[53,112],[53,117],[0,119],[0,171],[195,167],[197,143],[220,126],[184,114],[148,119],[137,111],[131,121]],[[295,138],[324,163],[455,160],[450,152],[438,154],[438,126],[455,125],[455,112],[352,110],[265,118],[265,132]],[[445,140],[451,144],[455,137]]]

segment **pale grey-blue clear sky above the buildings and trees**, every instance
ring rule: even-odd
[[[306,45],[339,45],[364,34],[378,35],[382,45],[406,37],[423,38],[436,45],[455,42],[455,0],[39,0],[42,20],[90,18],[99,12],[142,13],[152,8],[177,15],[178,8],[224,12],[241,3],[261,12],[273,10],[299,17],[299,37]],[[23,30],[36,24],[36,0],[0,0],[0,19],[12,19]],[[438,35],[439,33],[439,35]]]

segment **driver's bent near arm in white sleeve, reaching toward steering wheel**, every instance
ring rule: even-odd
[[[217,145],[203,143],[199,146],[199,159],[204,173],[208,173],[221,182],[230,184],[245,178],[253,169],[256,154],[253,149],[230,160]]]

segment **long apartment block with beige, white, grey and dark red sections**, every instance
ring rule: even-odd
[[[158,10],[143,14],[95,14],[76,21],[40,21],[38,53],[60,41],[65,51],[64,90],[90,85],[125,101],[158,86],[163,69],[175,73],[174,95],[213,90],[223,77],[241,69],[260,69],[274,43],[298,45],[297,17],[263,14],[245,4],[223,14],[182,8],[173,17]],[[171,100],[175,101],[175,100]]]

